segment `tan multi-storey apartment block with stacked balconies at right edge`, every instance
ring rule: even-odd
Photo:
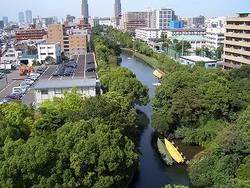
[[[226,19],[224,68],[250,64],[250,12]]]

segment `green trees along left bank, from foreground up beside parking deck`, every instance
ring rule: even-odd
[[[104,94],[76,90],[32,109],[0,106],[0,187],[124,187],[138,165],[134,105],[148,89],[117,65],[116,46],[94,32],[92,45]]]

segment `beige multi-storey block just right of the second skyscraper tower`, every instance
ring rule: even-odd
[[[146,12],[125,12],[122,15],[121,27],[126,32],[134,33],[136,29],[147,26]]]

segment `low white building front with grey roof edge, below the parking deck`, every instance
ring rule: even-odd
[[[53,100],[54,97],[63,97],[65,92],[76,88],[83,97],[96,96],[96,79],[70,79],[70,80],[40,80],[35,85],[35,105]]]

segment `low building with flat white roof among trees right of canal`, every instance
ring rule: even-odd
[[[207,57],[201,57],[201,56],[181,56],[180,57],[180,63],[182,65],[194,66],[199,62],[204,63],[206,68],[216,68],[217,67],[217,61],[210,59],[210,58],[207,58]]]

